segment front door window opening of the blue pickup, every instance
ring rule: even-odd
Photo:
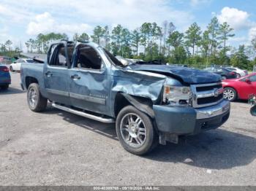
[[[78,47],[75,67],[80,69],[100,70],[102,68],[102,58],[94,48],[82,44]]]

